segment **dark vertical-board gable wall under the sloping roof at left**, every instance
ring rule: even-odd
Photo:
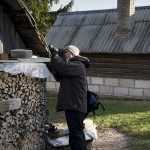
[[[11,16],[5,13],[0,3],[0,53],[9,54],[11,49],[17,48],[25,48],[24,42],[15,30]]]

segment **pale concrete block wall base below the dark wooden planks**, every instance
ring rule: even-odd
[[[103,97],[150,100],[150,80],[87,77],[88,88]],[[53,77],[46,82],[48,91],[58,92],[59,83]]]

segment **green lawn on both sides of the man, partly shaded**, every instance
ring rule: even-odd
[[[101,128],[116,128],[133,137],[130,146],[133,150],[150,149],[150,102],[103,100],[106,111],[98,109],[96,115],[88,116]],[[65,122],[64,113],[55,113],[56,97],[49,98],[49,120]]]

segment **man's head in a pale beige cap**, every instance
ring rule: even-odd
[[[66,60],[68,60],[72,57],[78,56],[80,53],[80,50],[76,46],[73,46],[73,45],[69,45],[69,46],[65,47],[64,50],[65,50],[64,57]]]

